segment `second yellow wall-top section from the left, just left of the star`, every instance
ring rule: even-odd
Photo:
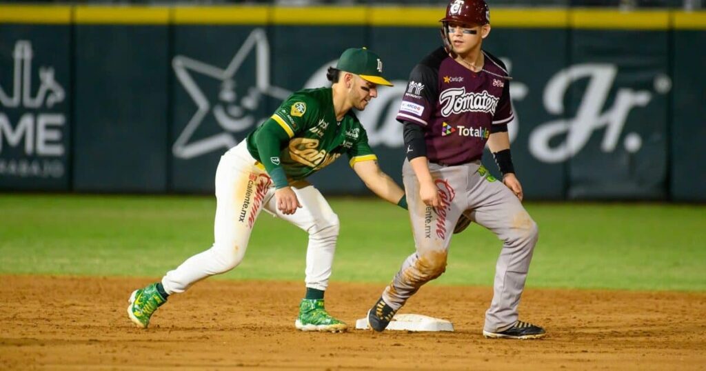
[[[169,8],[157,6],[77,6],[76,23],[109,25],[166,25]]]

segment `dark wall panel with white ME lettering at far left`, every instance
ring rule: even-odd
[[[0,23],[0,190],[70,187],[70,45],[68,25]]]

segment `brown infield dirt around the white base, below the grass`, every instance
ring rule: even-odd
[[[0,369],[706,370],[706,294],[527,290],[537,341],[481,336],[489,288],[429,286],[402,312],[454,333],[294,329],[301,283],[214,279],[174,295],[148,330],[128,296],[148,279],[0,276]],[[333,283],[332,314],[354,324],[381,285]]]

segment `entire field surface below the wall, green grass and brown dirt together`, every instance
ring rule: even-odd
[[[405,211],[331,198],[341,234],[326,307],[353,326],[414,251]],[[706,370],[706,206],[529,203],[539,224],[520,319],[481,335],[501,248],[455,235],[446,273],[401,313],[453,333],[294,329],[306,233],[264,215],[233,271],[169,298],[147,330],[132,290],[213,242],[213,196],[0,194],[2,370]]]

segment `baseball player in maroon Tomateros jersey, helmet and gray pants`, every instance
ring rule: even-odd
[[[441,19],[444,47],[410,73],[397,120],[405,125],[402,177],[417,251],[369,311],[376,331],[388,326],[421,285],[441,276],[455,226],[467,218],[503,241],[483,335],[544,336],[542,327],[517,319],[537,224],[522,207],[510,157],[510,77],[500,59],[481,49],[491,30],[489,18],[484,0],[451,1]],[[481,165],[486,143],[502,182]]]

